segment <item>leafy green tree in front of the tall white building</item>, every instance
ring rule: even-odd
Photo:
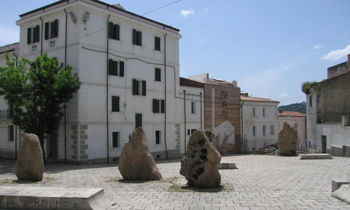
[[[65,102],[72,99],[81,83],[72,66],[44,53],[34,62],[15,60],[5,55],[6,67],[0,67],[0,95],[13,105],[13,124],[39,137],[45,161],[45,133],[58,129]]]

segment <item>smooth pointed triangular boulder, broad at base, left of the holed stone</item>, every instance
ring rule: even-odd
[[[126,180],[159,180],[161,175],[153,156],[148,151],[146,135],[142,127],[132,131],[119,158],[119,171]]]

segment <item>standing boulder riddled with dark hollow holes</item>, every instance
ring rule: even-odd
[[[216,167],[221,155],[209,138],[214,134],[197,130],[189,137],[187,155],[181,159],[180,174],[187,179],[189,186],[215,188],[220,186],[221,175]]]

